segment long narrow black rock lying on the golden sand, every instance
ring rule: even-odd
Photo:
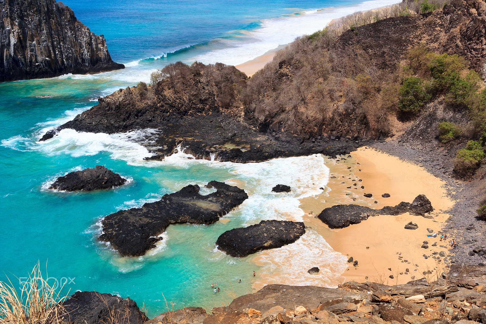
[[[371,209],[358,205],[334,205],[324,209],[318,216],[330,228],[344,228],[351,224],[359,224],[369,216],[376,215],[400,215],[410,213],[416,216],[425,216],[434,210],[430,200],[425,195],[418,195],[412,203],[400,202],[391,207],[385,206],[382,209]]]

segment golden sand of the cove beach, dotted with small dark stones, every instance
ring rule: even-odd
[[[432,255],[433,252],[441,251],[448,254],[450,248],[448,242],[440,242],[440,235],[436,238],[427,237],[427,228],[438,233],[450,216],[442,212],[453,205],[453,201],[446,196],[446,189],[442,187],[443,181],[422,167],[370,148],[360,148],[352,153],[351,158],[346,157],[346,160],[338,162],[329,160],[326,165],[330,168],[331,178],[336,177],[328,183],[330,191],[302,199],[300,207],[306,213],[306,225],[321,234],[335,251],[358,260],[357,267],[348,263],[343,273],[346,280],[396,285],[412,280],[413,276],[415,279],[424,276],[434,279],[440,275],[444,258],[440,257],[440,261],[432,257],[425,259],[423,254]],[[353,186],[354,183],[357,186]],[[364,189],[360,188],[361,185]],[[349,186],[351,188],[347,188]],[[373,197],[365,198],[364,193],[371,193]],[[391,197],[382,198],[383,193]],[[397,205],[401,201],[412,202],[419,194],[425,194],[430,199],[435,208],[431,213],[433,219],[408,213],[399,216],[383,215],[369,217],[360,224],[344,229],[330,230],[314,218],[324,208],[334,204],[355,203],[379,209],[386,205]],[[378,203],[375,204],[375,200]],[[410,221],[417,223],[417,230],[404,229]],[[423,241],[429,242],[429,249],[421,248]],[[431,246],[434,242],[437,242],[436,247]],[[405,274],[407,268],[409,271]],[[424,271],[432,273],[424,275]],[[390,275],[393,275],[393,279]]]

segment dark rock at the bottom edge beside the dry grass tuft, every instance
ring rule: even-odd
[[[62,305],[67,312],[63,320],[67,323],[106,324],[112,323],[111,318],[117,318],[117,324],[140,324],[148,321],[145,313],[140,311],[133,300],[107,293],[77,291]]]

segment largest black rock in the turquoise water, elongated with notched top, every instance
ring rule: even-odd
[[[248,198],[243,189],[224,182],[211,181],[206,187],[216,192],[202,196],[197,184],[188,185],[156,202],[108,215],[99,239],[110,242],[121,256],[140,256],[155,248],[162,239],[157,235],[170,224],[212,224]]]

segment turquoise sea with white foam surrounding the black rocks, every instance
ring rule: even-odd
[[[302,219],[297,198],[318,193],[327,183],[329,169],[322,156],[235,164],[188,160],[179,153],[164,162],[144,162],[150,154],[133,140],[150,130],[113,135],[63,130],[50,141],[37,141],[46,130],[95,105],[93,98],[148,81],[151,71],[170,62],[240,64],[322,29],[332,18],[395,1],[63,2],[93,32],[104,34],[112,58],[127,68],[0,84],[0,269],[11,278],[24,277],[37,261],[43,268],[47,263],[50,283],[67,281],[71,293],[130,296],[144,304],[149,317],[167,310],[162,294],[176,308],[210,308],[251,292],[254,283],[335,285],[346,258],[312,230],[292,245],[243,259],[214,246],[226,230],[260,219]],[[88,193],[47,189],[55,178],[96,164],[130,183]],[[144,257],[120,258],[97,242],[103,216],[210,180],[238,185],[250,198],[213,225],[170,226],[160,246]],[[275,181],[295,190],[272,194]],[[299,257],[298,265],[289,262],[289,255]],[[319,278],[306,272],[315,265],[323,269]],[[220,293],[212,292],[213,282]]]

